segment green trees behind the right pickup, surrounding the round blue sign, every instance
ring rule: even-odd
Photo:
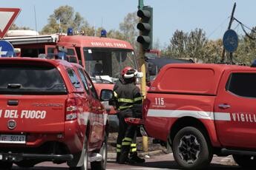
[[[246,35],[239,36],[237,50],[233,52],[232,61],[235,64],[252,64],[256,58],[256,27]],[[203,63],[220,63],[223,55],[222,39],[208,40],[202,29],[192,30],[190,33],[184,33],[182,30],[176,30],[170,44],[161,52],[170,58],[192,58]],[[226,60],[230,61],[230,54],[226,52]]]

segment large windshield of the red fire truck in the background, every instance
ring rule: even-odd
[[[129,66],[137,69],[133,50],[99,48],[83,48],[83,50],[85,69],[91,75],[92,80],[95,82],[97,78],[104,79],[104,81],[96,83],[113,83],[119,78],[124,67]]]

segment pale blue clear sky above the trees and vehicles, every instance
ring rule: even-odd
[[[119,30],[128,13],[137,11],[139,0],[0,0],[0,7],[17,7],[22,11],[14,22],[19,27],[41,31],[47,18],[60,6],[68,5],[79,12],[91,26]],[[223,38],[229,26],[234,3],[234,17],[246,27],[256,26],[255,0],[144,0],[154,9],[154,42],[166,47],[176,30],[189,33],[201,28],[209,39]],[[243,35],[236,21],[233,30]],[[249,30],[248,30],[249,31]]]

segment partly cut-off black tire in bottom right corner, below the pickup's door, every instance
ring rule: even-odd
[[[234,161],[243,168],[255,168],[256,167],[256,157],[248,156],[248,155],[238,155],[233,154]]]

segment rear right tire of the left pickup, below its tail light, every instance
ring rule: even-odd
[[[88,169],[88,141],[85,137],[84,149],[82,152],[73,155],[73,160],[68,162],[70,170],[87,170]]]

